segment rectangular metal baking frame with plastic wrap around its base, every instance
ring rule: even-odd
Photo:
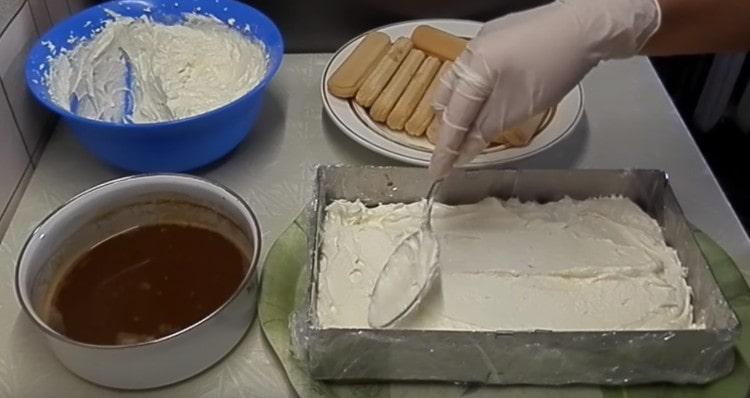
[[[296,355],[321,380],[423,380],[485,384],[706,383],[734,366],[739,323],[706,264],[664,172],[655,170],[475,170],[447,180],[437,200],[487,196],[539,202],[622,195],[662,227],[688,268],[702,329],[667,331],[437,331],[324,328],[317,319],[318,248],[335,199],[376,205],[420,200],[427,171],[320,166],[311,201],[308,291],[292,319]]]

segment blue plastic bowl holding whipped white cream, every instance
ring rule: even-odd
[[[213,15],[266,47],[266,76],[250,92],[212,111],[171,122],[117,124],[82,118],[52,102],[42,77],[51,48],[71,49],[69,38],[91,37],[111,19],[150,15],[155,21],[177,23],[184,13]],[[229,23],[231,21],[231,23]],[[248,27],[249,29],[245,29]],[[266,85],[281,65],[284,45],[276,25],[258,10],[233,0],[121,0],[88,8],[57,24],[31,49],[26,84],[45,107],[59,114],[81,144],[114,166],[138,172],[186,171],[211,163],[234,149],[250,132],[261,108]]]

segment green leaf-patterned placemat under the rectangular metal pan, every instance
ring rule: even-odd
[[[708,260],[721,291],[740,322],[750,325],[750,289],[732,259],[702,232],[698,244]],[[655,384],[633,387],[501,387],[432,383],[339,384],[315,381],[303,370],[291,351],[289,317],[306,291],[298,283],[307,267],[305,217],[298,217],[276,240],[266,257],[258,307],[263,332],[284,367],[289,381],[303,398],[308,397],[601,397],[605,398],[746,398],[750,394],[750,330],[744,329],[737,342],[737,361],[727,377],[703,386]]]

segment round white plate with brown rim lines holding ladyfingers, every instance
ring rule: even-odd
[[[387,25],[376,30],[391,36],[410,37],[419,25],[431,25],[461,37],[476,36],[482,24],[458,19],[423,19]],[[370,119],[367,112],[354,103],[334,97],[326,89],[328,79],[351,54],[367,34],[363,33],[344,44],[328,61],[320,84],[323,107],[333,122],[346,135],[375,152],[406,163],[426,166],[430,163],[432,145],[423,137],[410,137],[406,133],[393,131],[381,123]],[[578,85],[558,104],[554,117],[529,145],[522,148],[490,148],[477,156],[469,165],[482,167],[502,164],[537,154],[560,142],[570,134],[583,113],[583,90]]]

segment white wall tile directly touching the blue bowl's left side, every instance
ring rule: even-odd
[[[37,38],[36,29],[28,4],[11,21],[0,37],[0,81],[8,94],[18,127],[21,129],[29,153],[36,149],[50,118],[28,92],[24,81],[26,53]]]

